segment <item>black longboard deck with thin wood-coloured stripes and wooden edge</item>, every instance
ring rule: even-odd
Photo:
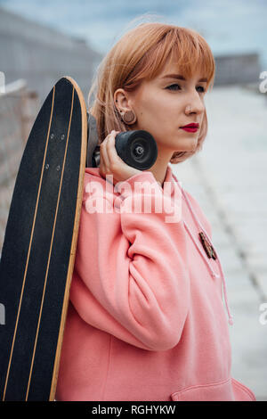
[[[87,114],[61,78],[28,136],[0,261],[0,399],[54,400],[85,175]]]

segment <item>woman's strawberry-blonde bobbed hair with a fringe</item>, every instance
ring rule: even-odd
[[[215,62],[213,53],[204,37],[194,29],[160,22],[145,22],[129,30],[102,59],[93,85],[88,94],[88,104],[95,92],[93,105],[88,111],[97,123],[99,144],[112,129],[127,131],[114,104],[117,88],[131,92],[142,80],[156,78],[167,60],[177,63],[186,78],[196,71],[207,78],[207,86],[214,84]],[[175,164],[188,159],[202,148],[207,132],[206,110],[193,152],[174,152],[170,162]]]

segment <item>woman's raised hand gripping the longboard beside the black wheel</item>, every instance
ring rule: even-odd
[[[99,172],[104,179],[106,179],[106,175],[113,175],[113,185],[116,185],[117,182],[123,182],[138,173],[142,173],[142,170],[132,168],[117,155],[115,137],[118,133],[119,131],[111,131],[100,144]]]

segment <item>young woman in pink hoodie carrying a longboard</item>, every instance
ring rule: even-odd
[[[255,400],[231,377],[211,226],[168,165],[201,149],[214,70],[203,37],[158,22],[128,31],[101,62],[89,93],[101,161],[85,169],[57,400]],[[129,129],[157,142],[149,170],[117,155],[115,137]],[[134,211],[148,200],[150,211]]]

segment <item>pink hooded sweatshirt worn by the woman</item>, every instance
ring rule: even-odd
[[[85,169],[56,399],[255,400],[231,377],[223,270],[199,240],[211,226],[198,202],[170,166],[163,189],[150,171],[126,183],[116,191]],[[152,210],[137,212],[146,200]]]

